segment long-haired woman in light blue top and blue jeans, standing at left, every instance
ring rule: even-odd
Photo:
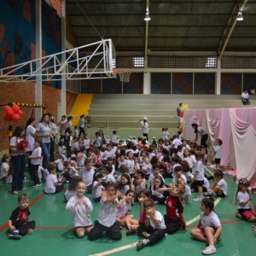
[[[53,136],[51,125],[49,125],[49,113],[43,114],[36,130],[36,136],[42,138],[43,167],[46,168],[46,164],[49,162],[50,137]]]

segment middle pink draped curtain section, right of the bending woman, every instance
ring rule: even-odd
[[[220,138],[223,141],[222,158],[220,164],[229,166],[230,164],[230,112],[228,108],[207,109],[207,125],[212,143]]]

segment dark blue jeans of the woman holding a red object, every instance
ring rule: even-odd
[[[23,188],[24,172],[26,165],[26,154],[12,156],[14,162],[14,175],[12,182],[12,191],[18,191]]]

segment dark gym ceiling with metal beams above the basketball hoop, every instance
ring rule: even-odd
[[[66,9],[76,46],[111,38],[117,55],[256,50],[256,0],[67,0]]]

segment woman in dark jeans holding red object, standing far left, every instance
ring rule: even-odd
[[[15,195],[18,194],[18,190],[23,189],[27,152],[27,143],[24,137],[25,127],[17,126],[13,133],[13,137],[11,137],[9,141],[10,152],[14,163],[12,193]]]

